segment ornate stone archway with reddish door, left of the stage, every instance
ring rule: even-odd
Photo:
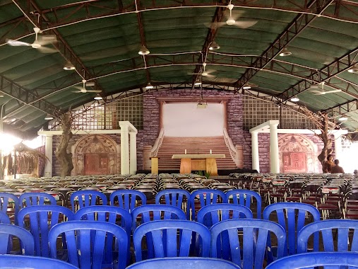
[[[117,143],[106,135],[86,135],[73,152],[74,176],[119,173]]]

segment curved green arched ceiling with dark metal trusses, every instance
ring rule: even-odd
[[[232,0],[238,23],[227,25],[229,1],[209,0],[3,0],[0,1],[0,98],[4,124],[32,134],[44,115],[93,100],[73,93],[82,80],[113,98],[156,88],[203,86],[256,96],[278,105],[303,105],[347,115],[358,128],[358,0]],[[249,23],[246,23],[249,22]],[[42,53],[31,44],[54,35],[55,48]],[[211,42],[219,50],[208,50]],[[149,55],[138,55],[141,45]],[[280,57],[286,47],[292,55]],[[65,71],[66,62],[76,71]],[[210,76],[201,76],[203,62]],[[335,91],[315,95],[316,90]],[[251,84],[247,90],[243,86]],[[323,89],[321,89],[323,85]],[[298,103],[290,98],[298,96]]]

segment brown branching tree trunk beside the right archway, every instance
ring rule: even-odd
[[[319,154],[317,157],[323,169],[323,164],[326,161],[327,156],[333,152],[333,140],[330,138],[330,131],[335,130],[339,125],[337,125],[335,120],[330,120],[327,113],[321,113],[320,111],[314,113],[308,108],[301,109],[304,110],[307,118],[309,118],[309,120],[314,123],[316,129],[321,131],[321,134],[316,134],[316,132],[314,132],[314,134],[318,136],[323,142],[323,149],[321,154]]]

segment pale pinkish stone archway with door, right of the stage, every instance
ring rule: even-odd
[[[314,173],[314,142],[303,135],[287,134],[278,139],[281,173]]]

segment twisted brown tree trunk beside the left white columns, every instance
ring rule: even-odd
[[[63,132],[61,142],[55,151],[55,156],[61,164],[61,176],[71,176],[71,171],[73,169],[72,154],[67,153],[68,142],[73,136],[71,132],[71,113],[61,115],[60,122]]]

